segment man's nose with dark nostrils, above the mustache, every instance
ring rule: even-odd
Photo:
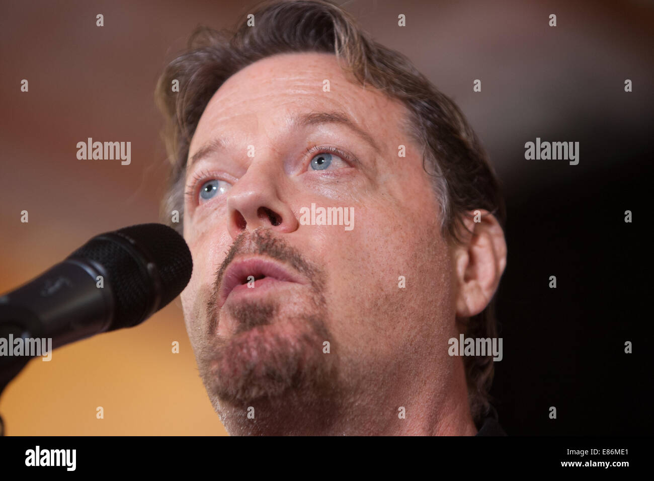
[[[278,182],[272,166],[250,164],[247,172],[228,191],[228,230],[233,239],[246,229],[266,227],[280,233],[294,232],[298,219],[279,198]]]

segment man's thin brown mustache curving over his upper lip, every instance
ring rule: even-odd
[[[254,254],[266,255],[267,257],[287,264],[309,279],[311,287],[313,287],[316,293],[322,291],[321,288],[324,285],[324,274],[322,270],[305,260],[300,251],[288,245],[283,238],[275,237],[269,229],[261,227],[251,232],[241,232],[233,241],[227,255],[218,267],[218,270],[216,270],[213,291],[209,302],[207,302],[207,319],[210,319],[209,332],[215,332],[218,322],[216,311],[218,292],[225,271],[235,257]]]

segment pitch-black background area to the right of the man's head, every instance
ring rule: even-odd
[[[509,260],[497,294],[505,357],[491,395],[509,435],[650,435],[651,123],[578,131],[568,137],[581,143],[579,165],[540,161],[551,162],[534,166],[542,184],[506,198]],[[574,175],[551,183],[556,168]]]

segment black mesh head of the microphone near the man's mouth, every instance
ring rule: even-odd
[[[114,316],[107,330],[145,321],[148,314],[160,310],[184,290],[193,270],[184,238],[174,229],[154,223],[95,236],[69,257],[94,260],[107,273],[109,279],[105,279],[105,284],[110,283],[114,294]],[[148,262],[154,264],[160,278],[158,293],[148,274]],[[152,306],[157,294],[159,302]]]

